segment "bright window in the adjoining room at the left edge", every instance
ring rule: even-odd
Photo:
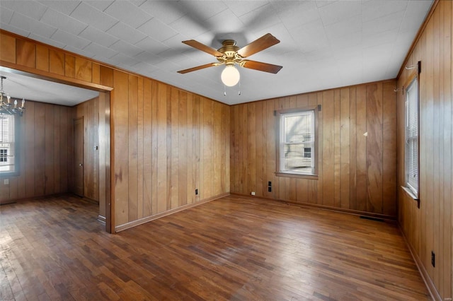
[[[17,172],[15,116],[0,114],[0,176]]]

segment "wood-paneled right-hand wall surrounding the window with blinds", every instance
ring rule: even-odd
[[[452,2],[439,1],[406,66],[421,61],[420,208],[404,185],[405,95],[398,93],[398,221],[439,300],[451,300],[453,219]],[[411,71],[398,78],[403,88]],[[435,252],[435,267],[431,265]]]

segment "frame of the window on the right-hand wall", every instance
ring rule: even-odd
[[[406,81],[406,85],[404,85],[404,186],[403,189],[415,200],[420,200],[420,76],[418,72],[414,72],[411,76],[408,77]],[[416,84],[415,90],[415,114],[416,116],[416,123],[417,126],[417,134],[415,136],[416,139],[416,148],[417,148],[417,182],[416,188],[409,183],[409,175],[408,175],[408,111],[409,111],[409,100],[408,100],[408,92],[413,89],[413,85]],[[419,205],[420,206],[420,205]]]

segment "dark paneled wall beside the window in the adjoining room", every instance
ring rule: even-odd
[[[0,202],[68,191],[71,107],[27,101],[20,117],[20,173],[0,179]]]

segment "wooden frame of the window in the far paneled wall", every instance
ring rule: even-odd
[[[319,133],[318,133],[318,124],[319,124],[319,112],[320,106],[315,105],[315,106],[308,106],[308,107],[297,107],[297,108],[292,108],[292,109],[282,109],[282,110],[276,110],[275,111],[275,116],[276,116],[276,134],[275,134],[275,175],[277,177],[297,177],[297,178],[303,178],[303,179],[318,179],[318,167],[319,167]],[[280,169],[280,147],[281,147],[281,122],[282,122],[282,116],[285,116],[286,114],[294,114],[298,112],[309,112],[313,111],[314,114],[314,143],[313,143],[313,148],[314,150],[311,152],[311,157],[313,158],[314,161],[314,168],[313,172],[311,173],[302,173],[302,172],[292,172],[292,171],[282,171]]]

